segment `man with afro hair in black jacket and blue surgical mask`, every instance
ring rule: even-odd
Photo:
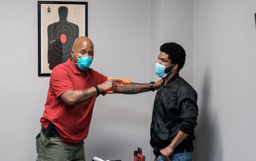
[[[179,75],[185,58],[184,48],[175,42],[160,47],[155,72],[163,83],[156,92],[150,127],[155,161],[193,159],[198,106],[196,91]]]

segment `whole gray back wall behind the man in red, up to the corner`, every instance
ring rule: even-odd
[[[49,77],[37,76],[37,1],[0,5],[0,160],[32,161],[49,87]],[[93,0],[88,6],[88,33],[95,47],[92,68],[108,77],[150,82],[150,1]],[[149,158],[148,99],[149,92],[100,96],[85,140],[86,159],[128,161],[138,146]]]

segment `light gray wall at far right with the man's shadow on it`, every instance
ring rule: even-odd
[[[255,6],[194,0],[196,161],[255,160]]]

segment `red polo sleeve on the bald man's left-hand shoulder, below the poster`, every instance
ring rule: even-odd
[[[50,86],[52,86],[52,89],[56,94],[56,97],[59,97],[62,93],[66,91],[74,90],[74,85],[71,82],[67,70],[62,68],[58,68],[52,71],[50,78]]]

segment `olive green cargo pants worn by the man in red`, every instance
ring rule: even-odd
[[[70,146],[60,136],[49,137],[41,131],[36,135],[36,161],[85,161],[84,141]]]

